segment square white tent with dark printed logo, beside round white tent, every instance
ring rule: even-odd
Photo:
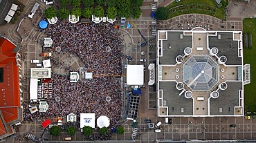
[[[95,113],[80,113],[80,128],[84,126],[95,128]]]

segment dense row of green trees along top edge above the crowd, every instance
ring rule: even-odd
[[[60,19],[66,19],[70,13],[76,17],[90,18],[91,15],[105,17],[106,12],[109,19],[115,19],[117,16],[132,16],[138,19],[141,15],[140,6],[143,5],[143,0],[60,0],[60,3],[61,8],[58,12],[53,7],[46,9],[46,18],[58,16]],[[71,12],[66,8],[70,4],[73,5]]]

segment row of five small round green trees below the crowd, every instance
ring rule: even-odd
[[[123,126],[119,126],[117,133],[118,134],[123,134],[125,132],[124,127]],[[52,126],[50,129],[50,134],[51,135],[60,135],[60,126]],[[75,127],[74,126],[68,126],[66,128],[66,133],[68,135],[75,135]],[[91,126],[84,126],[84,128],[82,128],[82,131],[84,132],[84,135],[91,135],[93,133],[93,128],[91,128]],[[100,128],[100,134],[105,135],[108,132],[108,129],[106,127]]]

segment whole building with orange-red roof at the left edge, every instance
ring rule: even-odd
[[[14,133],[12,124],[22,120],[19,48],[0,37],[0,139]]]

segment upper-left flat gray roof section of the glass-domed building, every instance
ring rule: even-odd
[[[177,55],[183,55],[186,47],[192,48],[192,36],[180,35],[183,32],[167,32],[167,40],[163,40],[163,57],[159,57],[160,64],[176,64]],[[172,48],[169,48],[171,45]]]

